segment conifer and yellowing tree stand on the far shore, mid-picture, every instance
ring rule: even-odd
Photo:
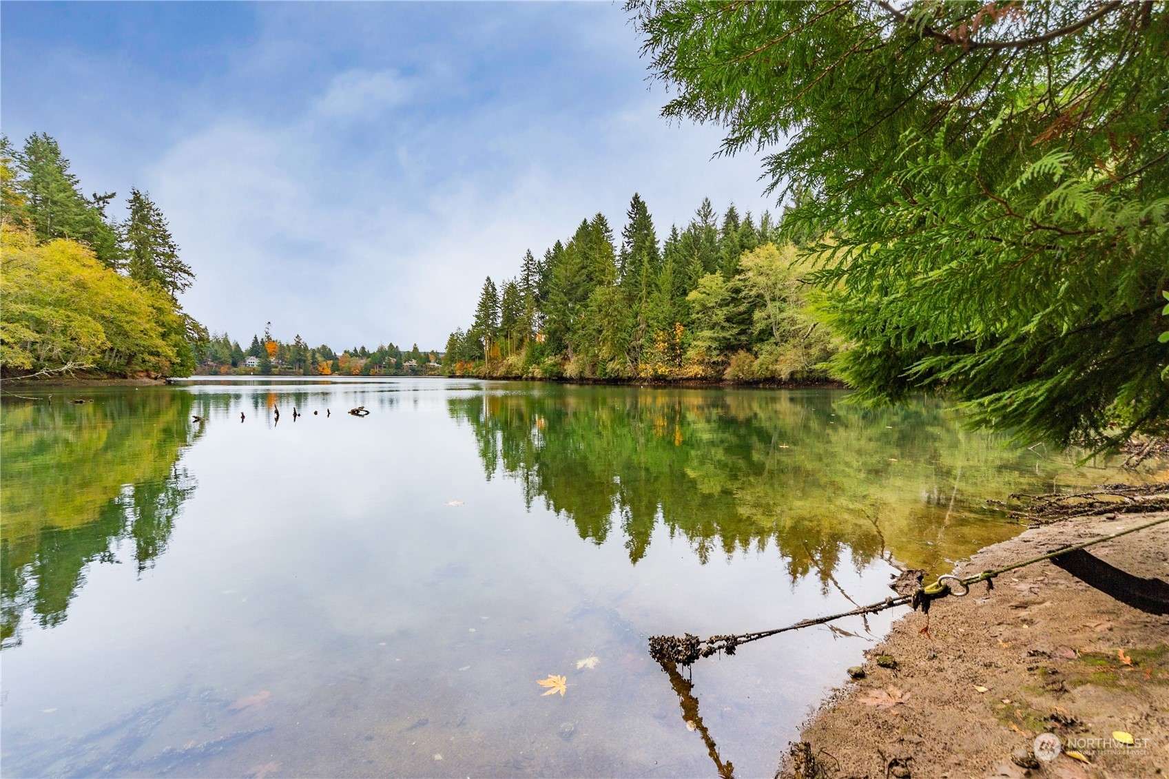
[[[620,247],[597,213],[542,257],[526,251],[514,278],[489,277],[444,364],[499,378],[824,382],[842,342],[780,225],[734,205],[719,220],[705,199],[659,242],[634,194]]]

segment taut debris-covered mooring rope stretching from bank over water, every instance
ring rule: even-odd
[[[922,612],[929,611],[929,602],[939,598],[945,598],[946,595],[953,594],[950,587],[953,585],[947,584],[947,581],[954,581],[962,585],[964,595],[969,592],[969,586],[977,584],[980,581],[985,581],[988,587],[994,587],[995,577],[1008,573],[1009,571],[1016,571],[1018,568],[1025,567],[1028,565],[1033,565],[1036,563],[1042,563],[1044,560],[1050,560],[1060,554],[1066,554],[1068,552],[1074,552],[1079,549],[1087,549],[1088,546],[1094,546],[1095,544],[1102,544],[1104,542],[1113,540],[1120,538],[1121,536],[1127,536],[1129,533],[1135,533],[1141,530],[1148,530],[1155,525],[1169,522],[1169,517],[1162,517],[1161,519],[1154,519],[1153,522],[1147,522],[1143,525],[1137,525],[1135,528],[1129,528],[1128,530],[1121,530],[1108,536],[1101,536],[1099,538],[1093,538],[1092,540],[1082,542],[1080,544],[1071,544],[1068,546],[1063,546],[1053,552],[1047,552],[1046,554],[1037,554],[1036,557],[1028,558],[1025,560],[1019,560],[1018,563],[1012,563],[1010,565],[1004,565],[999,568],[992,568],[990,571],[983,571],[982,573],[976,573],[964,579],[959,577],[946,574],[939,577],[933,584],[918,587],[918,590],[912,595],[899,595],[897,598],[886,598],[885,600],[879,600],[874,604],[869,604],[867,606],[858,606],[857,608],[841,612],[838,614],[828,614],[824,616],[816,616],[812,619],[800,620],[786,627],[774,628],[770,630],[758,630],[755,633],[739,633],[739,634],[727,634],[727,635],[712,635],[706,639],[699,639],[697,635],[686,633],[685,635],[655,635],[650,636],[650,655],[660,663],[678,663],[682,666],[690,666],[696,660],[700,657],[710,657],[711,655],[725,652],[728,655],[733,655],[739,644],[750,643],[752,641],[759,641],[760,639],[767,639],[780,633],[787,633],[788,630],[798,630],[800,628],[812,627],[814,625],[824,625],[825,622],[831,622],[833,620],[844,619],[845,616],[858,616],[860,614],[876,614],[877,612],[883,612],[886,608],[894,608],[897,606],[913,606],[914,609],[920,608]]]

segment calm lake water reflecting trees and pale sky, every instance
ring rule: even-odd
[[[0,428],[12,777],[769,777],[892,615],[692,677],[648,636],[884,598],[1018,532],[984,498],[1115,476],[838,391],[48,393]]]

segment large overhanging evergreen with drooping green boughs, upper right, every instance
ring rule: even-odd
[[[1169,5],[628,8],[664,113],[762,150],[784,233],[830,236],[812,280],[859,398],[946,389],[1058,444],[1169,433]]]

